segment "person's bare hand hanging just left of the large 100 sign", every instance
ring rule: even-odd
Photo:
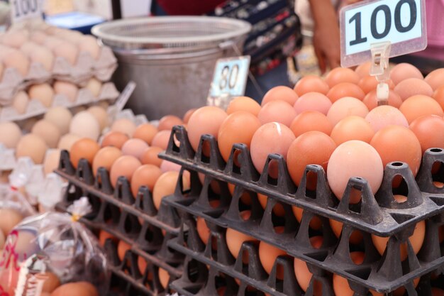
[[[333,69],[340,66],[340,34],[335,16],[322,18],[316,23],[313,46],[322,73],[326,72],[327,67]]]

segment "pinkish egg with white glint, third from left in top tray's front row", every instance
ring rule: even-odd
[[[277,122],[264,124],[252,136],[250,153],[253,165],[262,172],[270,153],[278,153],[287,158],[287,151],[295,137],[291,129]],[[277,172],[270,168],[269,173],[276,177]]]

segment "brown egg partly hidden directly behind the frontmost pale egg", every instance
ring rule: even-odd
[[[335,125],[331,131],[331,138],[336,145],[347,141],[359,140],[370,143],[374,136],[374,130],[370,124],[360,116],[347,116]]]

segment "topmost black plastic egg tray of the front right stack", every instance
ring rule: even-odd
[[[202,153],[204,145],[210,148],[209,156]],[[260,175],[252,165],[250,151],[244,144],[235,144],[228,162],[225,163],[219,153],[217,141],[211,135],[201,136],[199,148],[194,153],[183,126],[174,126],[168,148],[159,157],[379,236],[391,236],[444,211],[444,188],[433,185],[433,181],[444,181],[444,165],[432,175],[435,162],[444,164],[444,150],[438,148],[424,153],[416,180],[406,163],[389,163],[376,194],[372,194],[366,180],[352,177],[341,200],[331,192],[326,172],[320,165],[307,165],[301,184],[296,188],[282,155],[270,154]],[[277,163],[276,179],[268,174],[272,162]],[[306,188],[306,175],[309,172],[317,176],[316,190]],[[397,175],[401,175],[403,181],[393,190],[392,181]],[[359,204],[349,203],[352,190],[360,191]],[[406,195],[406,202],[396,202],[394,194]]]

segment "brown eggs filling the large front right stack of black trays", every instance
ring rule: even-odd
[[[375,194],[382,184],[384,167],[391,162],[404,162],[414,176],[418,173],[423,153],[428,148],[444,148],[444,69],[423,77],[416,67],[399,64],[391,70],[389,100],[386,106],[377,106],[377,80],[368,75],[370,64],[361,65],[355,71],[344,68],[332,70],[323,80],[320,77],[304,77],[294,89],[275,87],[270,89],[257,104],[248,97],[238,97],[223,111],[205,106],[194,111],[187,124],[189,141],[194,150],[203,134],[211,134],[218,141],[218,149],[228,160],[235,143],[250,148],[252,163],[262,172],[267,156],[277,153],[287,160],[287,168],[293,182],[299,186],[306,165],[321,165],[326,171],[328,184],[340,200],[350,177],[362,177]],[[209,151],[203,149],[208,155]],[[270,163],[272,165],[272,163]],[[439,170],[436,164],[435,170]],[[269,170],[277,177],[276,170]],[[316,189],[316,180],[307,176],[309,190]],[[443,180],[440,180],[443,181]],[[444,187],[444,183],[433,184]],[[393,187],[399,187],[394,182]],[[233,194],[233,185],[228,185]],[[213,190],[216,192],[216,190]],[[405,202],[404,195],[394,196],[397,202]],[[265,208],[267,197],[258,194]],[[360,202],[360,195],[350,198],[351,204]],[[301,221],[302,209],[293,207],[294,215]],[[248,219],[249,212],[244,212]],[[274,214],[283,216],[284,210],[274,207]],[[336,236],[340,236],[343,224],[330,220]],[[209,229],[204,220],[196,221],[202,241],[208,241]],[[311,228],[319,229],[320,221],[313,219]],[[279,231],[279,229],[277,229]],[[418,222],[409,237],[414,253],[420,251],[426,233],[424,221]],[[243,241],[254,238],[227,229],[228,249],[238,257]],[[313,247],[322,245],[322,236],[311,238]],[[359,245],[362,236],[352,235],[350,243]],[[388,238],[372,235],[376,250],[383,255]],[[407,257],[406,245],[401,246],[401,260]],[[262,267],[270,273],[275,259],[286,252],[265,242],[259,244]],[[352,253],[356,264],[362,263],[364,253]],[[311,280],[306,263],[295,259],[296,278],[303,290]],[[415,285],[419,279],[414,280]],[[347,280],[333,276],[335,295],[353,295]],[[436,290],[438,292],[438,290]],[[377,292],[372,295],[380,295]],[[404,295],[401,287],[394,295]],[[316,294],[316,293],[315,293]],[[438,295],[438,294],[437,294]]]

